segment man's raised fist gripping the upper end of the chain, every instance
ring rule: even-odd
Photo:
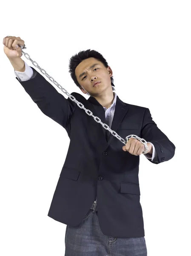
[[[9,36],[3,38],[4,52],[8,58],[20,58],[23,55],[21,48],[16,45],[24,46],[25,42],[20,37]]]

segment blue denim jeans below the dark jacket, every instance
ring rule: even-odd
[[[97,200],[79,226],[66,226],[65,247],[65,256],[147,256],[145,237],[117,238],[102,233]]]

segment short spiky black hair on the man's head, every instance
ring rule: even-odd
[[[73,55],[70,58],[69,61],[69,73],[71,75],[71,78],[73,79],[74,83],[79,87],[82,88],[80,86],[80,84],[77,81],[76,75],[75,75],[75,69],[76,67],[80,64],[80,62],[82,62],[83,60],[87,59],[87,58],[95,58],[98,61],[102,62],[103,65],[107,68],[108,67],[108,62],[105,60],[105,58],[103,57],[103,55],[95,50],[91,50],[88,49],[86,51],[80,51],[77,54]],[[113,76],[111,76],[111,86],[112,89],[115,90],[114,88],[114,78]],[[86,93],[88,94],[88,93]]]

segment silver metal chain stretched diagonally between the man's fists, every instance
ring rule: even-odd
[[[29,55],[28,53],[26,53],[26,52],[23,51],[23,49],[26,49],[25,44],[24,44],[24,46],[20,46],[20,45],[19,45],[19,47],[21,48],[21,51],[22,51],[23,54],[25,55],[25,58],[27,58],[28,60],[30,60],[30,61],[32,62],[32,64],[33,64],[35,67],[37,67],[37,68],[40,70],[41,73],[43,73],[43,75],[45,75],[46,77],[48,77],[48,79],[49,79],[50,81],[52,81],[52,82],[53,82],[63,93],[65,93],[73,102],[75,102],[75,103],[78,105],[79,108],[82,108],[83,110],[85,110],[86,113],[88,114],[88,116],[92,116],[92,117],[94,118],[94,120],[95,120],[97,123],[100,123],[100,124],[103,126],[103,128],[104,128],[105,130],[108,130],[114,137],[116,137],[118,140],[120,140],[120,141],[121,141],[123,144],[125,144],[125,145],[126,145],[126,143],[128,142],[128,140],[129,140],[131,137],[133,137],[134,139],[139,140],[141,143],[143,143],[143,144],[145,145],[145,150],[143,151],[143,154],[146,154],[146,153],[147,153],[148,147],[147,147],[147,144],[146,144],[146,143],[147,143],[146,140],[141,139],[140,137],[138,137],[137,135],[134,135],[134,134],[128,135],[128,136],[126,137],[126,140],[124,140],[122,137],[120,137],[120,136],[117,134],[117,132],[111,130],[107,124],[103,123],[99,117],[94,116],[93,113],[92,113],[89,109],[86,109],[82,103],[78,102],[77,99],[75,99],[74,96],[72,96],[70,93],[68,93],[67,90],[65,90],[59,83],[57,83],[57,81],[55,81],[54,78],[52,78],[51,76],[49,76],[48,73],[46,73],[46,71],[45,71],[43,68],[41,68],[41,67],[38,65],[38,63],[37,63],[36,61],[33,61],[33,60],[31,59],[30,55]]]

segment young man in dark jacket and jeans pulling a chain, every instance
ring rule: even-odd
[[[16,67],[12,60],[11,64]],[[131,138],[124,145],[58,93],[37,70],[24,64],[22,72],[14,71],[16,79],[70,138],[48,212],[49,217],[67,225],[65,255],[146,256],[138,178],[143,143]],[[81,51],[71,57],[69,72],[90,97],[71,95],[122,138],[130,134],[144,138],[148,145],[144,155],[151,163],[174,156],[174,144],[157,127],[149,109],[124,103],[114,92],[113,72],[103,55],[90,49]]]

